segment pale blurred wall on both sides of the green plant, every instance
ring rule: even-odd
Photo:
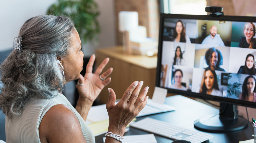
[[[98,21],[101,32],[98,42],[88,44],[85,56],[91,56],[98,47],[116,45],[116,25],[113,0],[95,0],[100,15]],[[2,0],[0,5],[0,51],[9,50],[13,39],[18,36],[22,24],[29,18],[46,13],[47,8],[56,0]]]

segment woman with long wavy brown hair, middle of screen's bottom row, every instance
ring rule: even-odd
[[[197,89],[197,92],[214,96],[222,96],[215,71],[209,69],[204,70],[201,86]]]

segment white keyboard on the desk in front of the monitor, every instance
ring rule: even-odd
[[[145,118],[130,125],[131,127],[144,130],[156,135],[161,135],[172,140],[183,139],[191,143],[201,143],[212,138],[212,135],[185,129],[157,119]]]

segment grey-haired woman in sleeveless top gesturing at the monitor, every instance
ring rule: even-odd
[[[109,58],[92,73],[92,55],[83,77],[81,40],[66,16],[30,18],[15,38],[14,48],[0,67],[6,142],[95,142],[85,120],[92,103],[111,81],[107,77],[112,68],[100,75]],[[65,83],[75,79],[79,99],[74,108],[61,92]],[[145,106],[148,87],[139,95],[142,84],[133,82],[116,105],[115,92],[108,88],[110,120],[105,142],[122,140],[127,124]]]

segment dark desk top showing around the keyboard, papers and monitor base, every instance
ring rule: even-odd
[[[175,95],[167,97],[165,104],[176,107],[175,111],[160,113],[155,115],[148,115],[139,117],[137,120],[150,117],[153,119],[159,119],[161,121],[169,122],[171,124],[177,124],[186,126],[188,129],[194,128],[194,121],[207,115],[218,114],[219,110],[209,105],[200,103],[198,101],[183,97],[181,95]],[[148,132],[130,127],[130,130],[124,135],[142,135],[149,134]],[[227,133],[207,133],[213,136],[213,138],[205,141],[207,143],[238,143],[239,141],[252,139],[253,127],[251,123],[240,131],[227,132]],[[96,143],[103,143],[103,137],[105,135],[96,136]],[[172,140],[155,135],[159,143],[171,143]]]

